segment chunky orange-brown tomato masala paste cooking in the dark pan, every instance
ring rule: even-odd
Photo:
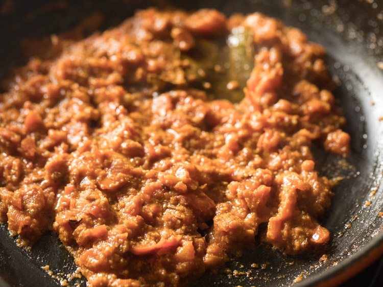
[[[232,31],[254,53],[236,104],[195,61]],[[95,287],[182,285],[255,236],[288,254],[328,242],[332,182],[310,145],[346,155],[350,136],[322,46],[206,9],[72,34],[23,45],[34,56],[4,83],[0,219],[21,244],[53,230]]]

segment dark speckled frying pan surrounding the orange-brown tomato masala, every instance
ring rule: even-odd
[[[331,242],[319,251],[285,256],[269,246],[244,250],[228,262],[227,269],[207,272],[192,285],[198,286],[330,286],[362,270],[383,253],[383,3],[350,0],[194,0],[194,1],[13,1],[13,9],[0,15],[0,77],[23,60],[19,41],[65,31],[84,16],[105,15],[105,29],[118,25],[136,9],[172,5],[183,9],[216,8],[233,12],[259,11],[303,30],[310,40],[328,52],[327,63],[339,87],[334,94],[347,118],[344,129],[351,134],[348,158],[315,149],[321,172],[330,178],[344,176],[322,223]],[[1,2],[0,2],[1,3]],[[7,12],[7,11],[6,11]],[[91,32],[91,31],[89,31]],[[380,66],[380,68],[379,68]],[[347,166],[347,168],[345,168]],[[375,196],[372,192],[375,191]],[[368,203],[366,204],[366,202]],[[327,260],[323,260],[327,255]],[[253,268],[258,264],[259,268]],[[52,278],[42,266],[49,265]],[[253,266],[253,267],[252,267]],[[57,237],[48,232],[31,250],[19,249],[0,225],[0,285],[60,286],[65,274],[76,266]],[[296,282],[296,278],[302,278]],[[85,286],[84,278],[71,281]]]

